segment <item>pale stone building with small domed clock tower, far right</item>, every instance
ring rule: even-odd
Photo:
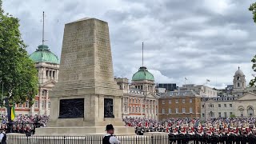
[[[221,90],[218,97],[202,99],[202,118],[255,116],[256,89],[246,87],[246,76],[240,67],[234,74],[233,83]]]

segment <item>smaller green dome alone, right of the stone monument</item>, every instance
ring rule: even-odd
[[[154,76],[151,74],[146,67],[142,66],[139,68],[138,72],[133,75],[132,81],[143,81],[149,80],[154,81]]]

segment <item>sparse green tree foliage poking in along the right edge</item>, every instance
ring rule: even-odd
[[[252,12],[254,22],[256,23],[256,2],[250,5],[249,10]],[[254,70],[254,72],[256,72],[256,55],[251,60],[251,62],[253,62],[252,69]],[[254,76],[254,79],[250,80],[249,84],[250,84],[250,86],[256,86],[256,77],[255,76]]]

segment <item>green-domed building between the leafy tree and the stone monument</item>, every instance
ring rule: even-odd
[[[30,59],[38,70],[38,94],[34,98],[34,106],[29,102],[15,104],[15,114],[50,114],[49,90],[58,82],[59,59],[50,52],[46,45],[39,45]],[[3,110],[7,114],[6,109]]]

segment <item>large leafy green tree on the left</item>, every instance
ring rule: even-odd
[[[0,79],[4,82],[4,98],[10,103],[29,100],[31,106],[38,93],[38,71],[27,54],[18,22],[18,18],[4,13],[0,0]]]

